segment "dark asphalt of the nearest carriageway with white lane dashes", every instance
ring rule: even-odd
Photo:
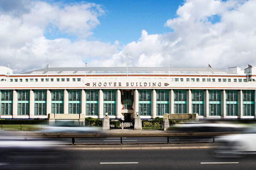
[[[255,169],[255,155],[217,159],[211,149],[68,150],[69,169]]]

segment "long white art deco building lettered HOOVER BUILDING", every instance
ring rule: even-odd
[[[46,118],[49,113],[102,118],[254,118],[256,66],[214,68],[43,68],[21,74],[0,66],[0,118]],[[85,71],[86,70],[86,71]]]

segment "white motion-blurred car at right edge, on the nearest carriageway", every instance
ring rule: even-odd
[[[244,133],[218,137],[220,146],[213,151],[218,158],[239,158],[247,154],[256,154],[256,129]]]

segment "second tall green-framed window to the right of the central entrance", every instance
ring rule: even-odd
[[[156,116],[169,113],[169,90],[156,90]]]

